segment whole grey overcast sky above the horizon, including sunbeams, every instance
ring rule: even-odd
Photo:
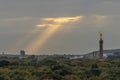
[[[0,53],[120,49],[120,0],[0,0]]]

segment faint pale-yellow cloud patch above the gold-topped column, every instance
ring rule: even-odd
[[[106,15],[85,16],[82,23],[83,23],[82,26],[84,26],[84,27],[100,29],[103,27],[107,27],[107,25],[109,23],[109,16],[106,16]]]

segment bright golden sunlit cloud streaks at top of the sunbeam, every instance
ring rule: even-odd
[[[58,17],[58,18],[43,18],[43,24],[37,24],[36,27],[53,27],[56,25],[63,25],[70,22],[80,21],[83,16],[75,16],[75,17]],[[46,22],[48,22],[46,24]]]

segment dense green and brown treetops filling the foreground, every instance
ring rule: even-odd
[[[1,58],[0,80],[120,80],[120,60]]]

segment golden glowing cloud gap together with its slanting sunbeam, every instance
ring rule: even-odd
[[[81,21],[83,16],[75,17],[58,17],[58,18],[43,18],[43,24],[37,24],[36,27],[47,27],[47,29],[40,34],[31,44],[26,47],[28,53],[34,54],[42,48],[42,46],[47,42],[47,40],[61,27],[65,24],[75,23]],[[46,22],[48,22],[46,24]]]

